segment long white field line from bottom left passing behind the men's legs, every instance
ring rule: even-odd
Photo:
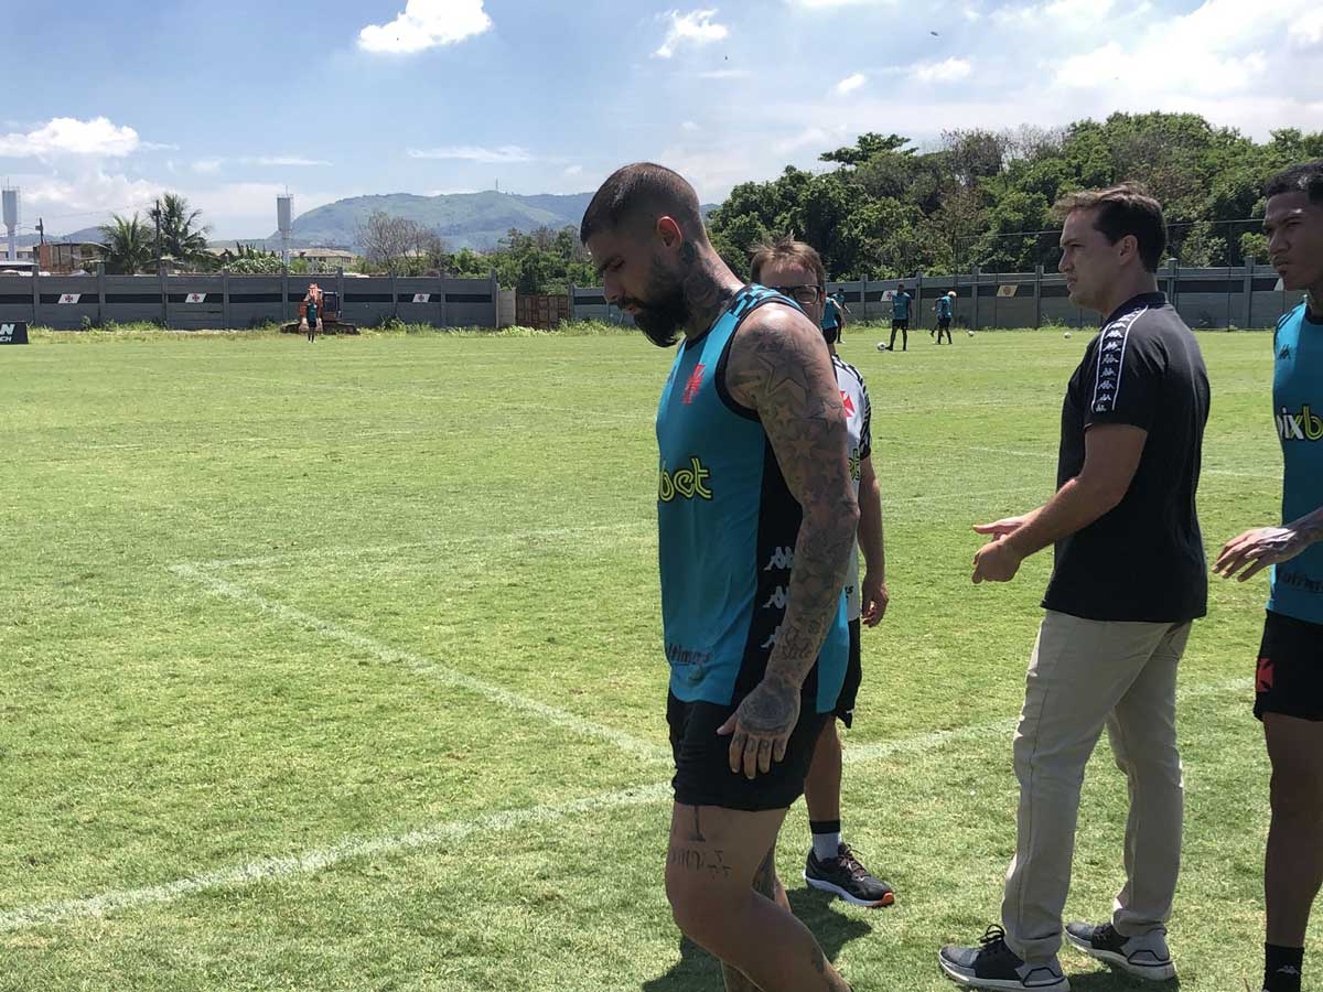
[[[1230,690],[1244,690],[1253,686],[1252,679],[1233,679],[1213,685],[1196,685],[1179,693],[1179,700],[1188,702],[1196,698],[1218,696]],[[880,741],[873,745],[847,746],[845,763],[864,765],[892,755],[929,754],[949,745],[983,741],[990,738],[1008,739],[1015,730],[1013,720],[996,720],[988,723],[975,723],[966,727],[935,730],[917,737],[897,741]],[[288,857],[262,858],[245,865],[222,868],[216,872],[180,878],[164,885],[140,889],[106,891],[83,899],[64,899],[42,905],[25,906],[0,913],[0,932],[28,930],[65,919],[103,917],[116,910],[134,909],[149,903],[172,902],[197,891],[212,889],[237,889],[254,882],[277,881],[295,876],[314,874],[325,868],[355,857],[388,856],[401,850],[433,848],[454,843],[472,835],[487,835],[495,831],[525,825],[558,823],[586,812],[624,809],[636,806],[650,806],[671,798],[671,784],[656,782],[650,786],[623,788],[614,792],[599,792],[594,796],[569,803],[534,806],[527,809],[505,809],[484,813],[474,820],[441,823],[407,833],[385,835],[380,837],[345,840],[329,848],[316,848]]]

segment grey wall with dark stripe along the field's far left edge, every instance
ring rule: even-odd
[[[310,283],[340,292],[343,316],[372,327],[386,317],[433,327],[496,327],[488,279],[368,279],[323,275],[0,276],[0,320],[71,329],[156,320],[185,331],[247,328],[298,319]],[[423,302],[426,298],[426,302]],[[419,302],[414,302],[414,300]]]

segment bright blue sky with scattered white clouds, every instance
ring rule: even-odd
[[[370,193],[593,190],[627,161],[704,202],[880,131],[1193,111],[1323,130],[1323,5],[1277,0],[0,3],[0,180],[60,234],[161,192],[213,238]],[[15,81],[21,79],[21,85]]]

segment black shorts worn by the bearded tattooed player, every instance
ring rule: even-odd
[[[685,806],[718,806],[722,809],[789,809],[804,794],[804,775],[814,759],[814,747],[831,713],[816,713],[815,700],[803,697],[799,722],[790,734],[786,757],[771,763],[750,782],[744,772],[730,771],[730,738],[717,737],[734,706],[714,702],[684,702],[667,694],[665,720],[671,727],[675,757],[675,802]]]

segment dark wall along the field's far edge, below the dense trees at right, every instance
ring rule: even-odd
[[[923,276],[909,279],[868,279],[830,282],[828,292],[843,290],[847,320],[890,320],[889,294],[898,283],[914,302],[910,304],[910,328],[934,327],[933,304],[942,294],[955,290],[955,324],[970,328],[1021,328],[1044,324],[1097,327],[1098,315],[1080,310],[1066,294],[1065,276],[1058,272],[971,272],[966,275]],[[1232,269],[1174,269],[1158,274],[1158,287],[1167,294],[1181,317],[1193,328],[1270,328],[1278,317],[1299,306],[1301,292],[1279,288],[1271,266],[1238,266]],[[1012,288],[1013,287],[1013,288]],[[574,287],[572,294],[576,320],[609,320],[618,324],[634,321],[615,307],[609,307],[598,287]]]

